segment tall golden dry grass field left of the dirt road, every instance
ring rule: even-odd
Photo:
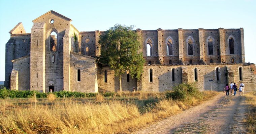
[[[152,97],[144,92],[132,94],[142,94],[142,98]],[[212,96],[213,93],[208,94],[204,99]],[[102,98],[104,99],[102,95],[98,98],[96,96],[96,100]],[[198,102],[200,101],[193,98],[186,102],[163,99],[154,105],[152,111],[141,114],[134,103],[119,100],[100,103],[65,101],[64,104],[55,101],[51,106],[38,105],[35,108],[31,105],[5,110],[4,114],[0,114],[0,133],[130,133],[162,118],[176,115],[191,104],[198,105]],[[6,108],[2,108],[2,105],[1,103],[0,110]]]

